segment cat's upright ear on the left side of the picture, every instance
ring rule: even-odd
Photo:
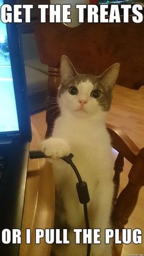
[[[60,78],[61,81],[67,81],[76,75],[76,70],[67,56],[63,55],[60,61]]]

